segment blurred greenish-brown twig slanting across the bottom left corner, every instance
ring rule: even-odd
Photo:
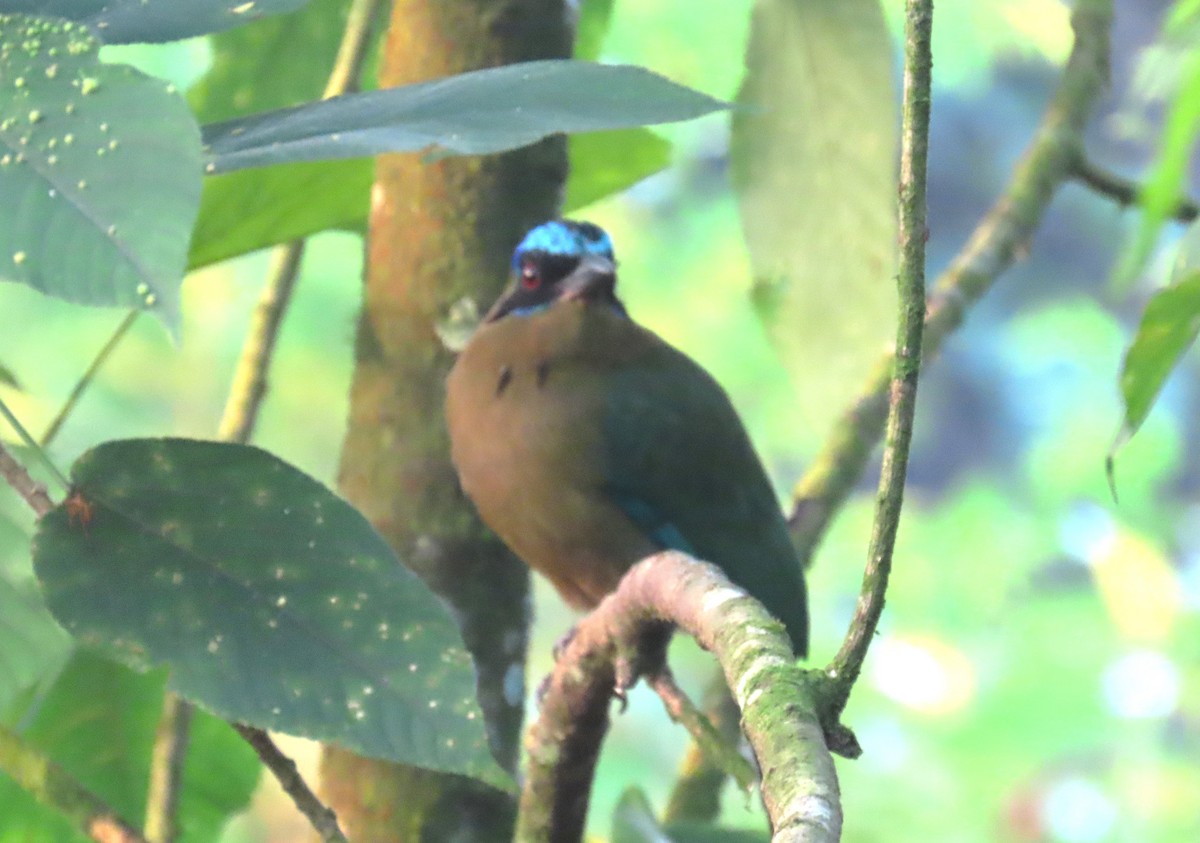
[[[66,817],[97,843],[146,843],[102,799],[84,788],[17,733],[0,723],[0,770],[23,790]]]

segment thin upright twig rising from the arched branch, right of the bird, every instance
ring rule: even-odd
[[[904,486],[908,468],[908,444],[917,409],[920,373],[920,341],[925,327],[925,166],[929,156],[929,107],[934,28],[932,0],[908,0],[905,14],[904,103],[900,130],[900,325],[896,330],[895,370],[888,412],[887,446],[871,544],[863,573],[858,606],[836,658],[828,672],[840,681],[840,712],[866,658],[875,636],[892,572]]]

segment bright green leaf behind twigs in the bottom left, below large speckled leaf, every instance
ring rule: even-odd
[[[77,651],[24,735],[137,825],[145,813],[163,678]],[[216,839],[229,817],[250,803],[259,770],[254,751],[228,724],[196,712],[179,803],[180,843]],[[4,777],[0,805],[0,843],[86,839]]]

